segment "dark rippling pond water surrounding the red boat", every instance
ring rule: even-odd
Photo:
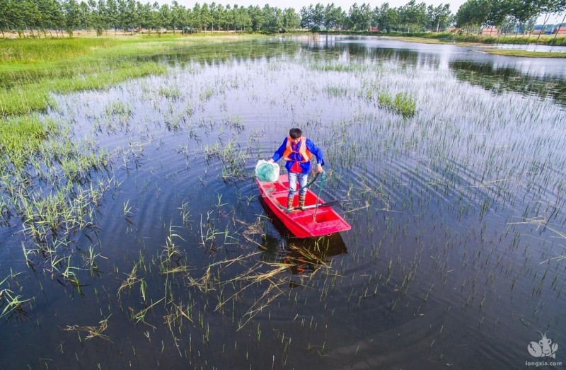
[[[158,60],[168,76],[55,97],[115,186],[67,250],[80,289],[25,264],[17,218],[0,229],[0,279],[31,299],[3,318],[1,368],[565,363],[563,62],[363,37]],[[298,241],[262,206],[253,168],[291,127],[351,231]],[[541,333],[555,358],[529,354]]]

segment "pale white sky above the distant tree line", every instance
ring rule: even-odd
[[[154,1],[157,1],[158,4],[171,4],[171,2],[173,2],[173,0],[149,0],[151,2],[151,4],[154,3]],[[350,9],[350,6],[352,6],[354,3],[357,3],[358,5],[361,4],[370,4],[372,8],[376,7],[376,6],[381,6],[381,4],[384,3],[389,3],[389,6],[391,8],[398,8],[399,6],[403,6],[405,4],[407,4],[410,0],[382,0],[382,1],[368,1],[368,0],[329,0],[329,1],[321,1],[321,0],[177,0],[177,2],[180,5],[184,5],[187,8],[192,8],[192,6],[195,5],[195,2],[198,2],[199,4],[203,4],[203,3],[207,3],[207,4],[212,4],[212,2],[215,2],[216,4],[222,4],[224,6],[230,4],[231,6],[233,6],[233,4],[237,4],[238,6],[245,6],[248,7],[250,5],[252,6],[260,6],[263,7],[265,6],[265,4],[269,4],[270,6],[274,6],[277,8],[294,8],[295,11],[299,12],[301,10],[301,8],[303,6],[309,6],[310,4],[323,4],[324,6],[326,6],[327,4],[331,4],[334,3],[335,6],[341,6],[343,10],[345,10],[346,12],[348,11],[348,9]],[[141,1],[142,3],[144,3],[145,1]],[[456,12],[458,11],[458,8],[460,8],[460,6],[462,4],[464,4],[466,2],[466,0],[450,0],[450,1],[441,1],[441,0],[416,0],[417,4],[424,2],[424,4],[428,5],[433,5],[433,6],[439,6],[440,4],[450,4],[450,10],[452,11],[453,14],[456,14]],[[543,23],[544,19],[543,17],[538,18],[536,23]],[[562,21],[562,16],[550,16],[550,19],[547,21],[547,24],[554,24],[554,23],[560,23]]]

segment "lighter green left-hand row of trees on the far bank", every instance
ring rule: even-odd
[[[0,30],[20,35],[47,35],[76,30],[172,30],[173,33],[207,30],[285,32],[300,28],[301,18],[293,8],[265,5],[199,4],[187,8],[170,4],[141,4],[135,0],[0,0]]]

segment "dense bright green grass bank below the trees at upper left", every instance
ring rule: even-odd
[[[257,40],[258,37],[247,37]],[[260,37],[265,38],[265,37]],[[0,40],[0,115],[24,115],[52,105],[51,93],[101,89],[141,76],[165,74],[149,57],[206,46],[200,55],[218,54],[217,43],[241,37],[136,37]],[[142,58],[146,57],[146,58]],[[166,88],[164,94],[178,97]],[[206,95],[206,94],[205,94]],[[207,98],[206,96],[204,98]]]

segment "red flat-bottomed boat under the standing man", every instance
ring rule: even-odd
[[[297,238],[313,238],[316,236],[330,235],[350,230],[348,224],[336,211],[325,205],[310,189],[306,190],[305,207],[289,212],[287,209],[287,195],[289,194],[289,179],[287,174],[279,175],[275,183],[255,180],[260,187],[261,196],[265,204],[277,216],[279,220]],[[298,196],[295,197],[293,206],[299,205]]]

